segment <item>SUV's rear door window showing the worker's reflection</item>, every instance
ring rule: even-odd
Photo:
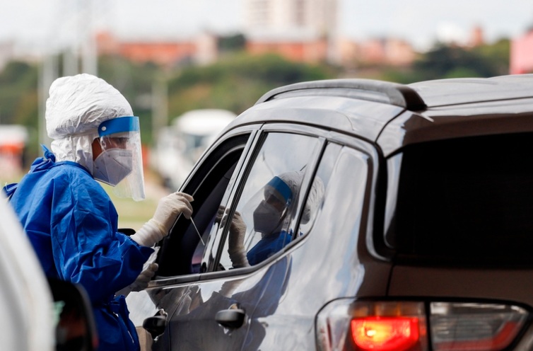
[[[219,269],[257,265],[298,236],[302,185],[312,175],[321,145],[316,137],[266,134],[229,221]],[[219,219],[225,209],[221,212]]]

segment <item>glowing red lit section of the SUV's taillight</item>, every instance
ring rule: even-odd
[[[419,339],[418,318],[363,317],[351,321],[351,335],[358,350],[406,351]]]

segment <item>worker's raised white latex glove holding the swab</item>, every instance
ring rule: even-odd
[[[152,219],[130,238],[141,246],[153,246],[168,235],[179,214],[182,213],[187,219],[191,218],[193,200],[193,197],[185,192],[173,192],[163,197],[159,200]]]

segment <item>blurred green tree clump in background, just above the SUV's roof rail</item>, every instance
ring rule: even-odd
[[[324,65],[291,62],[274,54],[233,54],[209,66],[186,67],[170,79],[169,116],[197,108],[242,113],[271,88],[333,76],[336,72]]]

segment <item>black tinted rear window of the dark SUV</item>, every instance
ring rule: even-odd
[[[533,264],[533,134],[406,147],[388,243],[399,257]]]

